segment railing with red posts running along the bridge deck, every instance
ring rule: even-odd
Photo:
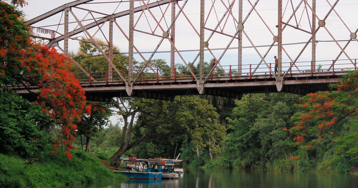
[[[287,76],[292,76],[292,74],[310,73],[312,76],[313,73],[332,72],[334,75],[334,73],[338,71],[350,71],[357,69],[357,59],[353,59],[352,61],[349,59],[340,59],[337,61],[326,60],[316,61],[315,63],[316,65],[314,66],[314,63],[311,61],[296,62],[294,65],[292,65],[291,62],[284,62],[282,63],[282,74],[286,73]],[[275,73],[275,64],[269,63],[268,65],[272,72]],[[214,71],[212,71],[212,74],[209,75],[211,67],[204,67],[204,77],[209,75],[210,80],[217,77],[229,77],[229,79],[233,77],[245,77],[246,79],[251,79],[252,76],[270,75],[270,78],[272,78],[273,76],[270,72],[270,68],[268,68],[265,64],[246,64],[242,65],[242,68],[239,70],[238,65],[229,65],[217,67]],[[159,82],[160,80],[174,80],[175,82],[177,79],[192,79],[192,81],[194,81],[192,72],[196,77],[199,77],[198,67],[192,67],[191,71],[188,71],[187,68],[154,69],[154,72],[152,70],[134,70],[133,77],[138,77],[137,81],[139,81],[139,83],[144,81]],[[124,84],[120,75],[115,71],[82,72],[74,73],[74,75],[81,83],[89,83],[89,85],[94,82],[106,82],[106,84],[111,82],[122,82],[122,84]],[[121,71],[121,75],[127,79],[128,71]]]

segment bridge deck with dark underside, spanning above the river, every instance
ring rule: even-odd
[[[338,82],[348,71],[303,72],[288,74],[283,80],[283,92],[306,95],[316,91],[328,91],[330,83]],[[169,76],[170,77],[170,76]],[[79,76],[78,76],[79,78]],[[126,97],[126,84],[121,79],[98,78],[81,80],[87,100],[109,101],[112,97]],[[37,87],[29,86],[36,91]],[[23,87],[15,88],[20,95],[29,98]],[[243,93],[278,92],[276,79],[270,74],[213,76],[204,83],[204,93],[241,99]],[[139,79],[133,84],[132,96],[173,100],[176,95],[199,95],[197,81],[193,76],[159,77],[158,79]]]

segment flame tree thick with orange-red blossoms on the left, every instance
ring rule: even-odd
[[[26,4],[22,0],[11,3]],[[84,90],[69,72],[71,67],[66,56],[47,45],[34,43],[29,38],[30,28],[18,19],[23,12],[14,5],[0,1],[0,84],[2,87],[22,85],[37,97],[35,103],[43,108],[42,112],[61,127],[61,135],[54,140],[53,154],[63,144],[71,160],[75,123],[84,111],[91,113],[91,106],[86,105]],[[27,82],[38,86],[39,92],[31,92]]]

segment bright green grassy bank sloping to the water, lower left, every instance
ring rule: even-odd
[[[69,161],[61,152],[44,153],[38,162],[27,167],[22,163],[28,159],[0,154],[0,187],[60,187],[124,179],[93,154],[73,151]]]

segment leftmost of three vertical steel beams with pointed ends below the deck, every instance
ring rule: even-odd
[[[128,96],[132,95],[133,90],[133,35],[134,35],[134,0],[129,1],[129,50],[128,50],[128,83],[126,91]]]

